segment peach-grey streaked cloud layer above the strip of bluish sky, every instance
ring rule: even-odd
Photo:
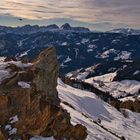
[[[84,22],[140,24],[140,0],[1,0],[0,4],[1,13],[27,19],[64,17]]]

